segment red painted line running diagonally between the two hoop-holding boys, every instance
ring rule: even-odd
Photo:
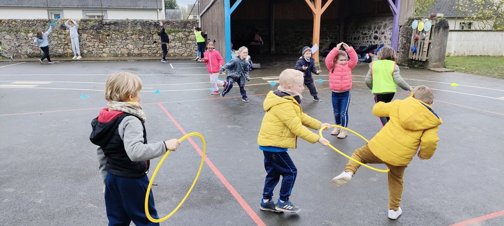
[[[159,105],[159,107],[161,107],[161,109],[163,109],[163,111],[168,116],[168,118],[170,118],[171,122],[173,122],[173,124],[175,124],[175,126],[178,128],[178,130],[185,136],[187,134],[185,132],[185,130],[170,115],[168,110],[166,110],[166,108],[164,108],[163,104],[161,104],[159,102],[158,105]],[[193,147],[196,149],[198,154],[200,154],[200,156],[203,156],[203,152],[201,151],[200,147],[198,147],[198,145],[196,145],[196,143],[194,143],[193,139],[187,138],[187,140],[193,145]],[[241,195],[236,191],[236,189],[234,189],[234,187],[226,180],[226,178],[217,169],[217,167],[215,167],[215,165],[212,163],[212,161],[210,161],[210,159],[208,159],[208,157],[206,157],[206,156],[205,156],[205,163],[207,163],[207,165],[210,167],[210,169],[212,169],[212,171],[219,178],[219,180],[224,184],[224,186],[229,190],[229,192],[231,192],[231,194],[234,196],[236,201],[238,201],[238,203],[240,203],[241,207],[245,210],[245,212],[248,213],[250,218],[252,218],[254,220],[254,222],[256,222],[257,225],[266,225],[263,222],[263,220],[261,219],[261,217],[259,217],[256,214],[256,212],[254,212],[254,210],[252,210],[252,208],[250,208],[250,206],[247,204],[247,202],[241,197]]]

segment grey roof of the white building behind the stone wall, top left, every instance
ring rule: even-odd
[[[100,8],[103,9],[161,9],[163,0],[0,0],[1,7],[28,8]],[[157,2],[157,6],[156,6]]]

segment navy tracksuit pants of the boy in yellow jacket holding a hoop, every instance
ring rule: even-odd
[[[263,198],[272,199],[273,190],[282,176],[282,186],[280,187],[280,200],[289,200],[290,193],[294,187],[297,169],[287,152],[267,152],[264,153],[264,168],[266,182],[264,183]]]

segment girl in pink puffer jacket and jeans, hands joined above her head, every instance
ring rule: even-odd
[[[345,51],[340,50],[341,46]],[[350,55],[350,60],[348,59]],[[326,57],[329,70],[329,88],[332,92],[334,122],[336,125],[348,126],[348,105],[350,105],[350,89],[352,88],[352,68],[357,64],[357,53],[346,43],[338,44]],[[344,129],[334,128],[332,135],[338,138],[347,137]]]

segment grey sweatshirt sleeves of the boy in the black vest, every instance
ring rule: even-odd
[[[140,162],[163,156],[166,153],[164,142],[144,144],[144,128],[142,122],[135,116],[127,116],[119,123],[119,136],[124,142],[124,149],[131,161]],[[103,154],[101,147],[96,150],[98,155],[100,174],[105,183],[105,165],[107,157]]]

